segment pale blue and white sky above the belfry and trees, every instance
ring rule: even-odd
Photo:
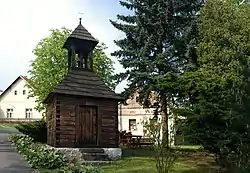
[[[82,13],[79,14],[79,13]],[[35,56],[36,44],[49,35],[52,28],[75,29],[82,17],[83,26],[108,49],[115,62],[115,72],[124,71],[110,53],[117,50],[114,40],[123,33],[109,20],[129,11],[118,0],[6,0],[0,5],[0,90],[5,90],[19,75],[26,75]],[[120,93],[126,82],[119,84]]]

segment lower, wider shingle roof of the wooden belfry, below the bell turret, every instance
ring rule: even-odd
[[[53,93],[122,100],[101,78],[92,71],[83,69],[71,69],[64,80],[45,99],[45,103]]]

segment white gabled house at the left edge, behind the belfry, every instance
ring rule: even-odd
[[[42,114],[34,109],[35,98],[28,98],[28,79],[19,76],[0,95],[0,118],[39,119]]]

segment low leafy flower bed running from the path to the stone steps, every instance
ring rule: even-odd
[[[96,167],[84,166],[77,163],[77,161],[69,163],[67,157],[63,153],[56,151],[45,144],[34,142],[33,138],[28,135],[13,134],[9,136],[9,140],[33,168],[48,169],[48,172],[57,173],[101,172]]]

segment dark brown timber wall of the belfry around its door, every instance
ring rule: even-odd
[[[97,99],[58,95],[57,110],[54,123],[50,121],[50,140],[54,146],[73,147],[76,137],[75,115],[78,111],[78,105],[98,106],[98,146],[99,147],[118,147],[118,103],[113,99]],[[55,106],[54,106],[55,107]],[[53,131],[56,134],[54,136]],[[56,139],[55,139],[56,138]]]

